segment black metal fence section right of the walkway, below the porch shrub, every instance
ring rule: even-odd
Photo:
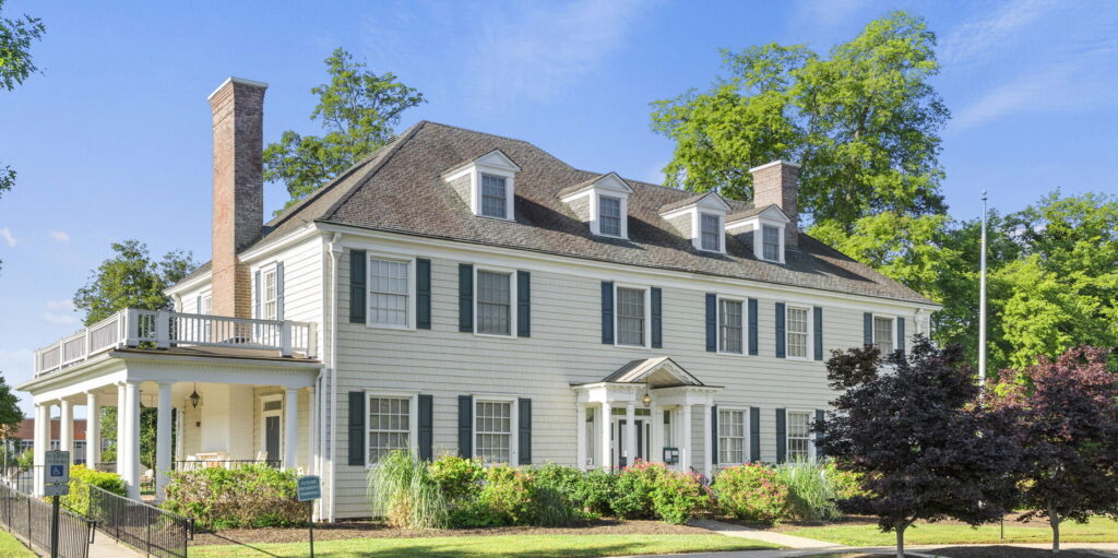
[[[186,558],[187,541],[195,532],[193,520],[97,486],[86,486],[89,489],[86,517],[97,522],[101,532],[148,556]]]

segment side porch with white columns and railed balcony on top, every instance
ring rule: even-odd
[[[143,331],[139,311],[125,311],[37,353],[36,378],[19,387],[35,403],[36,465],[49,447],[40,425],[53,415],[60,418],[61,450],[74,455],[73,420],[84,407],[87,463],[119,473],[132,499],[151,484],[152,495],[163,499],[168,473],[176,470],[246,463],[316,469],[321,365],[310,344],[314,324],[152,314],[150,331]],[[101,424],[105,407],[116,409],[115,425]],[[152,418],[154,455],[144,455]],[[148,444],[141,443],[144,435]],[[115,437],[115,456],[102,454],[105,437]],[[41,466],[36,472],[36,493],[42,493]]]

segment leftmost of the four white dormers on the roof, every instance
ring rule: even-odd
[[[520,165],[499,149],[443,173],[477,217],[515,220],[515,180]]]

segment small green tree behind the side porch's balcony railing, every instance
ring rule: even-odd
[[[74,294],[74,306],[85,311],[85,324],[108,318],[124,309],[167,310],[171,299],[163,290],[192,272],[197,264],[190,253],[173,250],[159,262],[148,245],[139,240],[113,243],[115,256],[105,259],[89,281]]]

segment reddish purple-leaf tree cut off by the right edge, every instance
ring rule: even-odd
[[[1084,347],[1004,370],[991,399],[1016,416],[1022,519],[1048,519],[1053,552],[1062,521],[1118,516],[1118,376],[1108,353]]]

